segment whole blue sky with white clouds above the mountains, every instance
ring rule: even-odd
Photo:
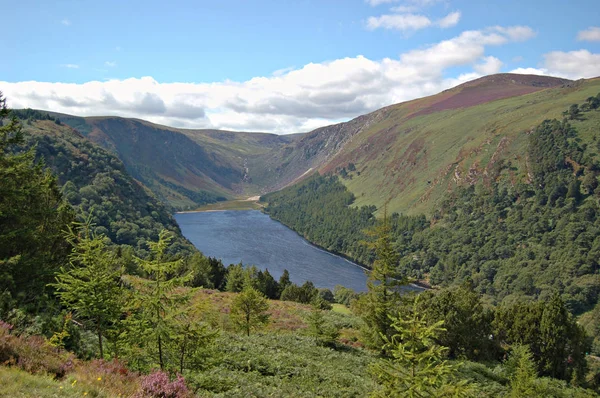
[[[501,72],[600,76],[597,0],[0,0],[12,108],[307,132]]]

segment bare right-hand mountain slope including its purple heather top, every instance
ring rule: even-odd
[[[314,153],[311,167],[321,173],[348,174],[342,181],[357,205],[431,214],[445,191],[493,178],[501,160],[526,175],[527,132],[598,91],[598,79],[488,76],[315,130],[296,146]]]

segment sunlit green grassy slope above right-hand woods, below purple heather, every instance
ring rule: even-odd
[[[489,181],[501,160],[511,162],[515,182],[524,180],[531,129],[599,92],[600,79],[594,79],[416,116],[414,102],[391,106],[322,171],[354,163],[356,171],[342,181],[358,206],[389,202],[390,211],[431,214],[446,190]],[[597,113],[574,124],[590,140],[600,127]]]

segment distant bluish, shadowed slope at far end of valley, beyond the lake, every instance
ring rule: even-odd
[[[249,163],[294,140],[275,134],[176,129],[120,117],[54,115],[115,153],[129,173],[176,209],[258,193],[252,175],[262,173],[255,173]]]

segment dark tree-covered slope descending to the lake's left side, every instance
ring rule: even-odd
[[[175,233],[173,250],[194,251],[165,205],[131,178],[117,157],[69,126],[39,120],[45,116],[38,112],[23,122],[27,144],[36,148],[36,157],[58,176],[64,198],[79,221],[89,217],[98,233],[116,244],[131,245],[140,254],[163,228]]]

